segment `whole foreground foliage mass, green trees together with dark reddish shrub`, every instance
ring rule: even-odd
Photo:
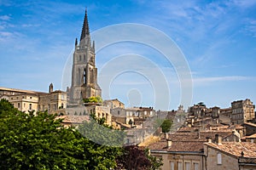
[[[137,146],[119,147],[117,133],[92,115],[78,127],[63,127],[45,112],[26,114],[0,100],[0,169],[156,169],[161,161]],[[102,128],[103,131],[102,131]],[[85,138],[80,132],[85,132]],[[91,139],[91,140],[90,140]],[[94,140],[115,145],[95,143]]]

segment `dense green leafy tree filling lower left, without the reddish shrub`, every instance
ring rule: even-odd
[[[0,169],[110,169],[119,147],[96,144],[47,112],[26,114],[0,100]]]

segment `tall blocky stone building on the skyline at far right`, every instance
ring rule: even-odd
[[[233,101],[231,103],[231,122],[241,124],[250,122],[255,118],[255,105],[250,99]]]

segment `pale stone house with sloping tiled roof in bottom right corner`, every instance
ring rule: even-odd
[[[251,170],[256,168],[256,144],[248,142],[208,142],[204,145],[207,170]]]

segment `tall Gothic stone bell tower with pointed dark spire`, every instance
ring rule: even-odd
[[[79,104],[82,99],[101,96],[102,89],[97,83],[95,63],[95,42],[90,41],[89,23],[85,10],[80,41],[75,41],[71,88],[67,89],[70,104]]]

